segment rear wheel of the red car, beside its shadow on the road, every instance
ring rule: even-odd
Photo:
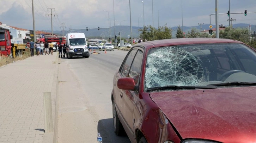
[[[113,123],[114,123],[115,134],[117,136],[121,136],[124,133],[124,129],[123,129],[123,125],[120,122],[117,112],[116,112],[115,101],[113,101],[112,105],[113,105],[112,109],[113,109]]]

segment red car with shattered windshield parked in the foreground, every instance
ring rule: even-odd
[[[138,43],[111,100],[115,133],[132,143],[256,143],[256,51],[228,39]]]

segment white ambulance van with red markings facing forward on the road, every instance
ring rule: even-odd
[[[90,56],[84,33],[74,32],[66,34],[66,44],[68,59],[74,56],[83,56],[85,58]]]

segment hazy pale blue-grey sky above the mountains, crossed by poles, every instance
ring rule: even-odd
[[[132,26],[153,25],[154,27],[197,26],[198,23],[209,24],[209,15],[215,13],[215,0],[130,0]],[[152,11],[153,1],[153,11]],[[183,2],[183,4],[182,4]],[[53,30],[130,26],[129,0],[33,0],[36,30],[51,30],[50,8],[53,14]],[[144,13],[143,13],[144,4]],[[227,13],[229,0],[218,0],[219,13]],[[0,22],[9,26],[33,29],[32,0],[0,0]],[[115,6],[115,8],[113,7]],[[231,14],[233,23],[256,24],[256,0],[230,0],[230,12],[248,14]],[[48,11],[49,10],[49,11]],[[105,12],[104,10],[108,11]],[[159,14],[159,15],[158,15]],[[144,16],[143,16],[144,15]],[[158,20],[159,19],[159,20]],[[219,15],[219,25],[228,25],[227,14]],[[123,21],[126,20],[126,21]],[[63,25],[61,23],[64,23]],[[215,25],[215,15],[211,16]]]

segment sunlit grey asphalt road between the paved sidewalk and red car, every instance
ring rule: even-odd
[[[114,73],[128,51],[98,53],[87,59],[60,59],[59,143],[95,143],[98,132],[103,143],[130,143],[127,136],[114,133],[111,102]]]

